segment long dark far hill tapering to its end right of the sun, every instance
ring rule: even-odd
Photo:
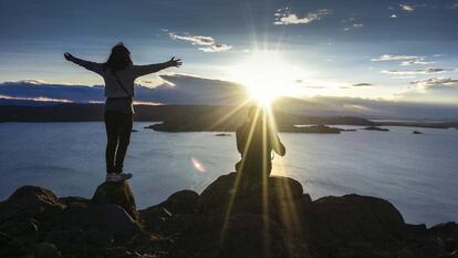
[[[179,123],[223,124],[241,123],[247,116],[244,107],[214,105],[137,105],[136,121],[177,121]],[[103,104],[65,103],[49,106],[0,105],[0,122],[84,122],[103,121]],[[281,124],[348,124],[372,125],[365,118],[350,116],[305,116],[275,112]],[[223,120],[225,118],[225,120]],[[220,121],[221,120],[221,121]],[[229,125],[228,125],[229,126]]]

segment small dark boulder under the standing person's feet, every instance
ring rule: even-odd
[[[95,190],[92,197],[94,204],[115,204],[124,208],[132,218],[137,218],[134,194],[127,180],[104,182]]]

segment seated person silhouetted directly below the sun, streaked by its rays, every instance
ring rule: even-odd
[[[241,159],[236,164],[236,171],[242,176],[262,179],[272,171],[272,151],[280,156],[285,148],[261,106],[251,106],[248,121],[237,128],[237,149]]]

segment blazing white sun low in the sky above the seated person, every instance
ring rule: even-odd
[[[257,51],[230,68],[231,80],[247,87],[251,100],[269,105],[279,96],[296,95],[304,72],[278,52]]]

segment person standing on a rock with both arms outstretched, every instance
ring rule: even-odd
[[[134,81],[138,76],[158,72],[167,68],[178,68],[181,60],[171,58],[164,63],[135,65],[131,52],[121,42],[112,48],[105,63],[95,63],[64,53],[64,58],[101,75],[105,82],[105,128],[106,128],[106,180],[122,182],[132,177],[123,173],[124,157],[131,141],[134,118]]]

